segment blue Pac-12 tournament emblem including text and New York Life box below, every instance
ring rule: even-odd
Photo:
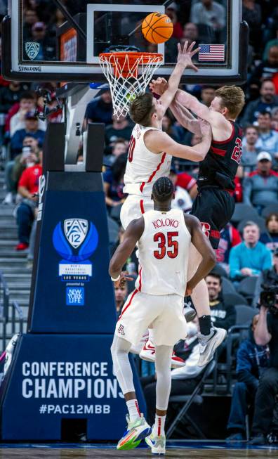
[[[62,259],[59,276],[66,283],[67,306],[84,306],[85,287],[92,276],[89,258],[98,247],[98,231],[86,219],[59,221],[53,231],[53,245]]]

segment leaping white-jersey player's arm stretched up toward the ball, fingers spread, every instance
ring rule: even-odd
[[[194,49],[195,41],[187,47],[188,41],[185,41],[183,48],[178,44],[178,60],[176,67],[173,70],[171,77],[168,80],[166,91],[162,94],[160,98],[161,105],[163,105],[164,110],[166,111],[173,98],[178,90],[178,85],[180,84],[180,78],[185,71],[185,68],[192,68],[197,72],[197,67],[192,63],[192,56],[199,51],[199,47]]]

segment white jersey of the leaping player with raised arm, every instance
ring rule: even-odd
[[[124,174],[124,193],[150,196],[154,182],[170,174],[171,155],[152,153],[145,146],[144,135],[147,131],[159,131],[154,127],[135,124],[128,147],[128,160]]]

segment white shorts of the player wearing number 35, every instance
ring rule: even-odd
[[[156,346],[173,346],[178,340],[185,340],[187,324],[183,316],[183,297],[148,295],[133,290],[121,310],[116,335],[136,346],[150,323]]]

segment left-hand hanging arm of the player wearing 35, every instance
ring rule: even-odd
[[[137,241],[140,239],[141,235],[143,235],[143,231],[143,217],[131,221],[126,228],[126,231],[124,232],[124,240],[119,247],[117,247],[116,252],[114,252],[113,257],[110,260],[109,273],[113,279],[119,278],[122,267],[126,263],[128,257],[131,256]]]

